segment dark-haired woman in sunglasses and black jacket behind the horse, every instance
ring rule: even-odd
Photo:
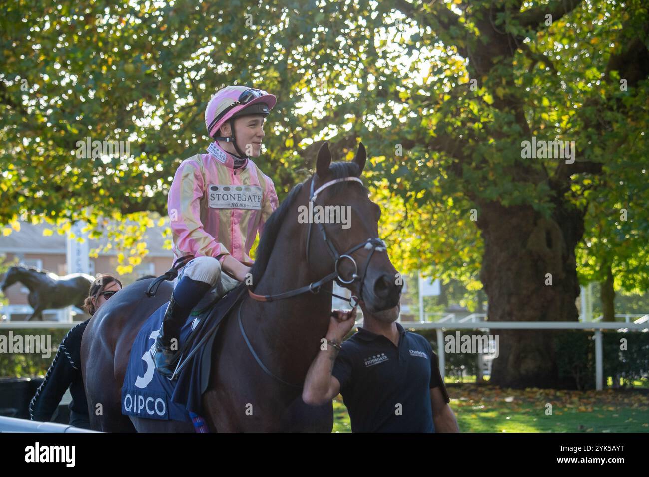
[[[108,273],[98,276],[90,286],[88,298],[84,301],[84,311],[94,315],[121,288],[121,282],[114,276]],[[45,379],[29,403],[32,421],[49,421],[69,387],[72,395],[69,424],[90,429],[88,400],[81,376],[81,338],[89,321],[90,319],[72,328],[58,346]]]

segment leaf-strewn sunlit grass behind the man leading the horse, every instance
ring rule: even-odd
[[[649,395],[638,391],[500,389],[466,378],[447,389],[461,432],[649,432]],[[341,396],[334,432],[351,432]]]

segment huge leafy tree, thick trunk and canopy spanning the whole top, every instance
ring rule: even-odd
[[[91,206],[164,214],[175,165],[204,147],[198,104],[248,82],[280,100],[264,156],[280,195],[323,140],[344,156],[362,139],[376,197],[404,210],[384,221],[403,263],[474,282],[480,264],[491,320],[576,321],[594,178],[616,178],[624,158],[631,180],[646,178],[640,0],[68,2],[27,23],[21,5],[2,19],[0,153],[14,164],[3,223]],[[133,137],[132,160],[70,160],[88,130]],[[500,344],[494,382],[557,384],[551,333],[502,332]]]

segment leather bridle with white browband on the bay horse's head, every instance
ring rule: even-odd
[[[333,186],[334,184],[338,184],[339,182],[345,182],[348,180],[354,180],[356,182],[360,182],[360,184],[363,184],[363,181],[358,178],[358,177],[342,177],[334,180],[330,180],[328,182],[325,182],[322,186],[317,188],[317,190],[313,190],[313,184],[315,184],[315,177],[312,178],[311,180],[311,190],[309,192],[309,202],[315,202],[315,199],[317,199],[317,196],[321,191],[324,189]],[[313,222],[309,221],[309,228],[308,232],[306,235],[306,263],[307,265],[310,265],[309,261],[309,246],[311,242],[311,228],[312,228]],[[384,241],[382,241],[379,238],[369,238],[365,240],[362,243],[359,243],[356,245],[356,247],[352,247],[349,249],[347,252],[344,254],[340,254],[338,250],[336,249],[336,245],[334,245],[334,242],[329,238],[329,236],[326,233],[326,230],[324,229],[324,225],[321,222],[317,223],[318,229],[322,235],[322,238],[324,240],[324,243],[327,245],[327,249],[330,253],[330,255],[334,258],[334,271],[330,273],[329,275],[325,276],[324,278],[321,278],[320,280],[317,280],[316,282],[312,282],[306,286],[291,290],[291,291],[285,291],[284,293],[278,293],[276,295],[257,295],[256,293],[253,293],[251,288],[248,288],[248,294],[253,300],[256,301],[261,301],[261,302],[271,302],[275,300],[282,300],[286,298],[291,298],[295,297],[297,295],[302,295],[302,293],[306,293],[307,291],[310,291],[313,294],[319,293],[321,287],[324,284],[327,284],[328,282],[332,282],[333,280],[336,280],[336,282],[340,286],[344,285],[350,285],[354,282],[360,281],[360,286],[359,286],[359,297],[356,297],[355,295],[352,295],[349,299],[346,297],[341,297],[340,295],[336,295],[335,293],[332,293],[330,291],[326,291],[326,293],[329,293],[330,295],[339,298],[341,300],[345,300],[349,302],[349,304],[352,306],[352,308],[356,308],[358,306],[358,302],[360,302],[363,299],[363,285],[365,284],[365,277],[367,276],[367,269],[369,267],[369,262],[372,260],[372,256],[374,254],[374,251],[378,252],[385,252],[386,251],[386,244]],[[363,276],[362,278],[358,275],[358,265],[356,264],[356,260],[351,256],[352,253],[360,250],[360,249],[365,249],[369,250],[369,256],[367,257],[367,262],[365,263],[365,269],[363,270]],[[347,259],[352,262],[354,265],[354,273],[352,273],[352,278],[351,280],[345,280],[344,278],[341,277],[338,269],[339,269],[339,263],[341,260]]]

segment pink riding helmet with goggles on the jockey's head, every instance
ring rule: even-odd
[[[247,86],[226,86],[212,96],[207,103],[205,110],[205,126],[210,138],[215,134],[228,119],[238,116],[237,113],[246,109],[246,114],[268,114],[275,106],[276,98],[262,90],[255,90]],[[265,103],[268,107],[263,108]],[[256,108],[249,108],[253,104],[259,104]],[[241,115],[243,116],[243,115]]]

